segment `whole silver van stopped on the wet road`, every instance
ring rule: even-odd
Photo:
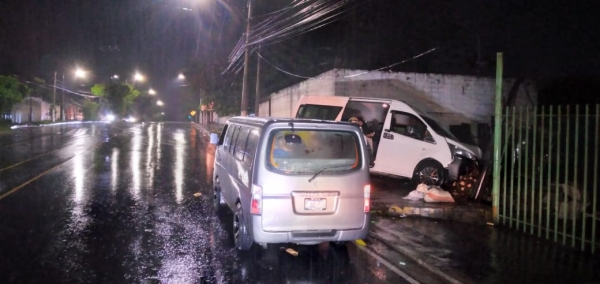
[[[237,249],[367,236],[368,152],[356,125],[234,117],[211,143],[214,205],[233,212]]]

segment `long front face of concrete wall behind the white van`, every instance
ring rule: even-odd
[[[335,72],[339,78],[336,95],[402,100],[448,125],[488,123],[494,114],[494,78],[379,71],[363,74],[365,71],[361,70]],[[511,79],[504,81],[504,95],[508,94],[513,82]],[[537,104],[533,84],[524,83],[518,94],[518,105]]]

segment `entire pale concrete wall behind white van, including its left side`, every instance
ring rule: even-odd
[[[504,95],[513,82],[504,80]],[[259,114],[291,117],[302,95],[337,95],[403,100],[447,124],[488,123],[494,114],[495,84],[494,78],[485,77],[334,69],[271,94]],[[517,104],[537,104],[532,83],[521,85]]]

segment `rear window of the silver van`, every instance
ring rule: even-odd
[[[287,174],[343,173],[362,165],[359,137],[351,131],[275,130],[268,166]]]

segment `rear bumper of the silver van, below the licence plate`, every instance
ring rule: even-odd
[[[365,214],[365,222],[360,229],[352,230],[306,230],[269,232],[261,227],[261,216],[252,216],[252,238],[256,243],[295,243],[314,245],[322,242],[353,241],[366,238],[369,234],[370,214]]]

